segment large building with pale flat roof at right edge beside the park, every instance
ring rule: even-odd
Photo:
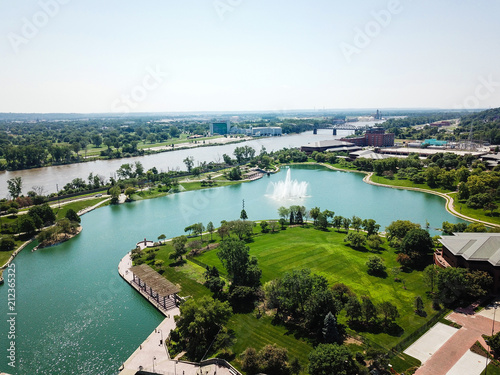
[[[486,271],[493,276],[493,291],[500,291],[500,233],[455,233],[443,236],[441,267]]]

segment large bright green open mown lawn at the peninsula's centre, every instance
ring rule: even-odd
[[[345,233],[333,230],[322,232],[311,228],[288,228],[275,234],[256,236],[255,241],[249,244],[250,254],[259,260],[263,283],[293,269],[309,268],[326,277],[330,285],[341,282],[358,295],[368,295],[377,303],[389,301],[395,304],[401,315],[397,323],[404,329],[402,336],[361,332],[363,336],[389,349],[427,321],[427,318],[414,313],[413,301],[417,295],[426,302],[429,316],[433,314],[422,275],[417,271],[401,273],[399,277],[404,283],[395,282],[391,269],[399,267],[399,264],[394,252],[385,247],[377,255],[384,259],[388,277],[370,276],[365,263],[374,254],[350,248],[344,243],[344,237]],[[196,259],[204,264],[215,265],[225,276],[216,251],[206,252]],[[339,319],[345,320],[345,316]]]

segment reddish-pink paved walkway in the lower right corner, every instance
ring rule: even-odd
[[[448,341],[446,341],[436,353],[427,360],[416,372],[415,375],[446,375],[459,374],[474,375],[472,368],[459,368],[457,363],[462,357],[470,356],[468,351],[476,341],[479,341],[483,347],[487,348],[483,334],[491,335],[493,321],[479,314],[462,314],[453,312],[447,316],[447,319],[460,324],[460,328]],[[495,333],[500,331],[500,324],[495,327]],[[459,362],[461,361],[461,362]],[[453,368],[453,371],[451,371]],[[457,372],[457,371],[463,372]],[[479,372],[480,373],[480,372]]]

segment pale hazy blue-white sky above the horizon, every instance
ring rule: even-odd
[[[498,0],[0,0],[0,112],[500,106]]]

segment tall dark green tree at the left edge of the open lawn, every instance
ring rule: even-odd
[[[217,256],[226,269],[232,285],[257,287],[262,271],[257,259],[250,257],[250,248],[241,240],[225,238],[221,241]]]

